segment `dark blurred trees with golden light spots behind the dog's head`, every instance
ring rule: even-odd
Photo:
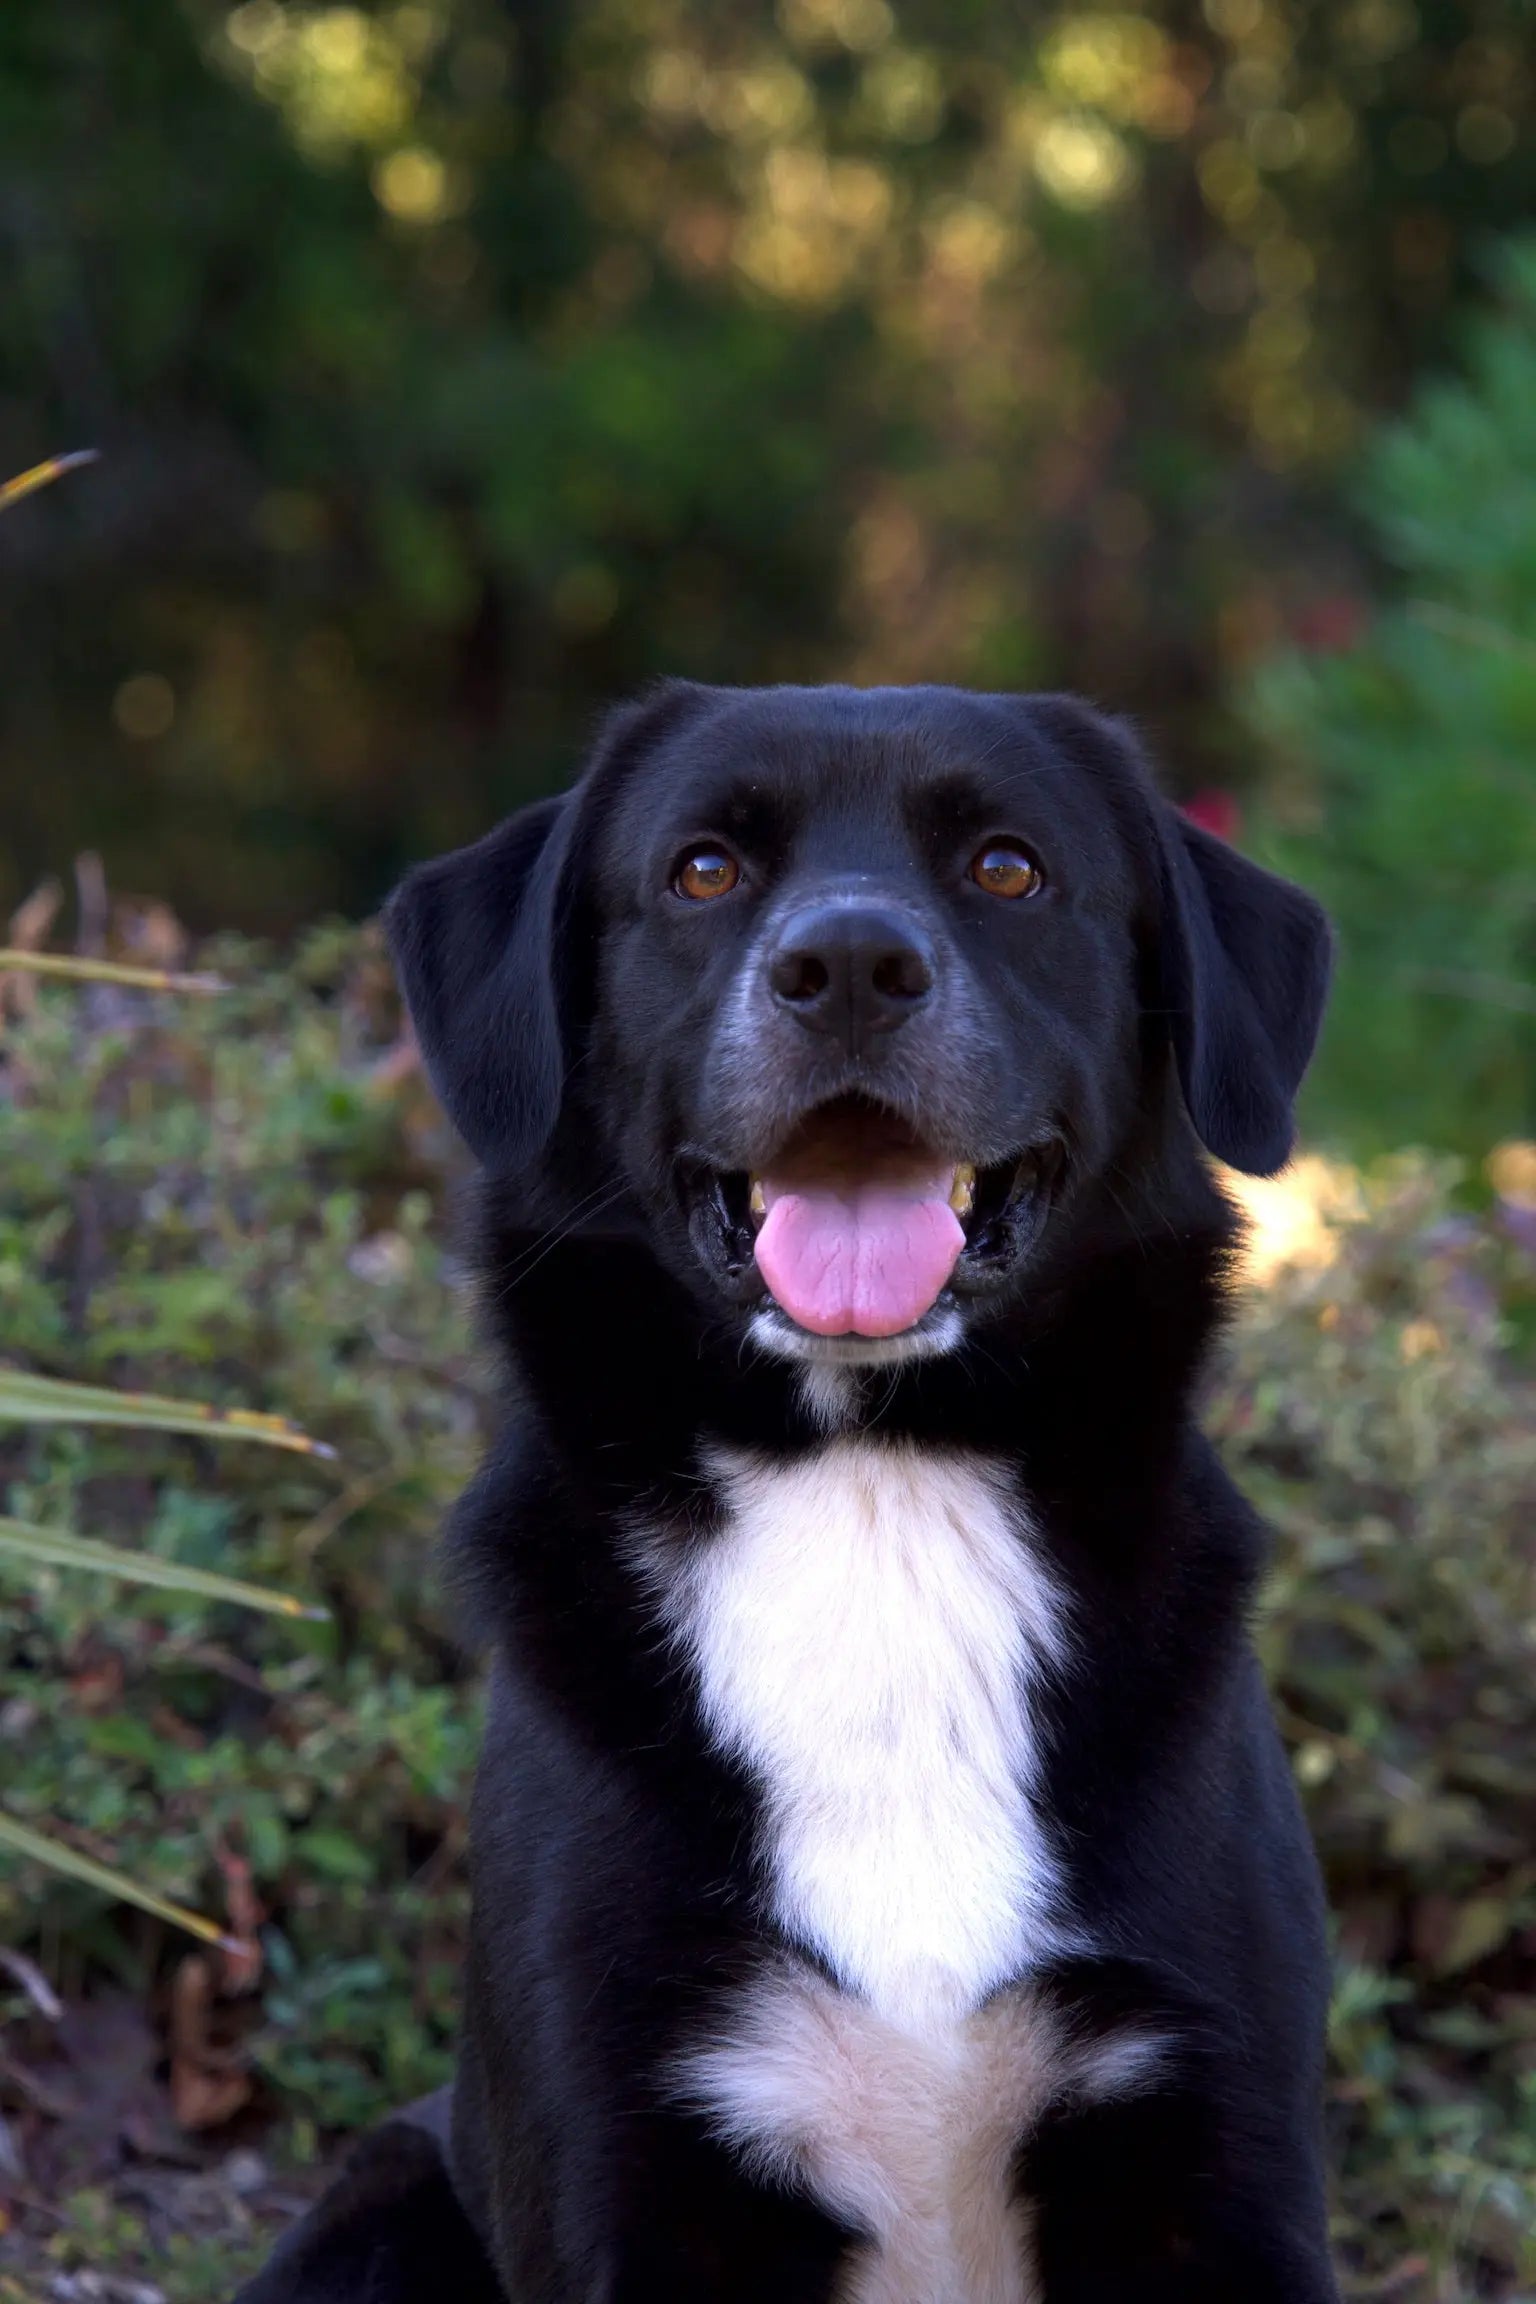
[[[1536,194],[1527,0],[7,0],[0,908],[371,908],[721,680],[1073,682],[1186,788]]]

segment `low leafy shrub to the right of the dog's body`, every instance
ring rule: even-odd
[[[1211,1428],[1278,1534],[1262,1654],[1338,1917],[1333,2124],[1391,2295],[1536,2279],[1536,1210],[1396,1159],[1239,1322]],[[1375,2292],[1375,2290],[1370,2290]],[[1522,2290],[1524,2292],[1524,2290]]]

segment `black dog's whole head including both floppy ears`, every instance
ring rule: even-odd
[[[486,1170],[799,1359],[1006,1316],[1149,1127],[1276,1170],[1329,972],[1124,728],[956,689],[668,684],[389,931]]]

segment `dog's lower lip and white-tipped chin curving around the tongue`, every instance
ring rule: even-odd
[[[960,1170],[974,1182],[965,1210],[956,1207],[965,1233],[956,1265],[910,1327],[880,1336],[857,1329],[815,1332],[774,1299],[755,1258],[762,1210],[753,1205],[748,1168],[689,1161],[679,1170],[679,1189],[693,1256],[716,1299],[742,1318],[758,1350],[811,1369],[891,1369],[958,1350],[972,1325],[1018,1297],[1057,1198],[1064,1161],[1059,1145],[1045,1143],[974,1168],[956,1164],[956,1173]]]

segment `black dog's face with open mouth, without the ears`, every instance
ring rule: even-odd
[[[983,698],[723,698],[619,790],[596,887],[594,1055],[659,1221],[774,1350],[951,1341],[1135,1081],[1092,779]]]

